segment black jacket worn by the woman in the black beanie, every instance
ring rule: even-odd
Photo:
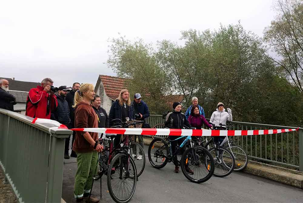
[[[167,114],[165,119],[166,128],[184,129],[184,125],[191,128],[191,125],[181,111],[173,111]]]

